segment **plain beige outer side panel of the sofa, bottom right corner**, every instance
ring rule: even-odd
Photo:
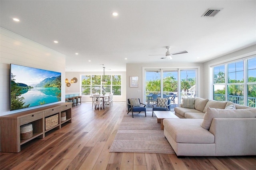
[[[215,155],[256,155],[256,118],[214,118]]]

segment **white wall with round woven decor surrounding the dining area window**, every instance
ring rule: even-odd
[[[103,69],[102,69],[102,72],[66,72],[65,78],[67,78],[69,82],[73,77],[76,77],[78,79],[77,83],[71,83],[70,87],[66,87],[66,93],[81,92],[81,75],[102,75],[102,74],[103,74]],[[126,72],[106,71],[105,74],[121,75],[121,79],[122,79],[121,96],[113,96],[113,101],[125,102],[126,101]],[[88,102],[88,101],[91,102],[92,98],[90,98],[89,96],[82,96],[82,102]]]

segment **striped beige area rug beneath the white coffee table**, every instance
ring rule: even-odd
[[[124,115],[109,152],[175,153],[151,111]]]

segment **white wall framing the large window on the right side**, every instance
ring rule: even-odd
[[[203,70],[203,76],[208,77],[207,79],[203,79],[202,83],[204,84],[205,88],[203,89],[203,98],[213,99],[212,95],[212,86],[211,86],[211,80],[210,77],[210,66],[223,64],[230,61],[236,61],[239,59],[242,59],[244,57],[248,57],[251,55],[256,55],[256,45],[252,45],[250,47],[235,51],[233,53],[223,55],[221,57],[218,57],[216,59],[212,59],[210,61],[207,61],[204,63],[204,70]]]

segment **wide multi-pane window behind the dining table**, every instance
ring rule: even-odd
[[[105,75],[105,82],[102,82],[102,75],[82,75],[82,95],[95,93],[121,95],[121,75]]]

